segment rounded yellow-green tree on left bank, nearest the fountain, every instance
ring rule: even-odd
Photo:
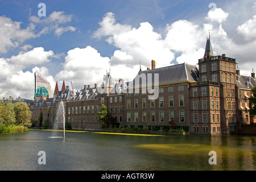
[[[14,105],[14,113],[16,119],[16,125],[19,126],[31,126],[31,112],[30,107],[25,102],[16,102]]]

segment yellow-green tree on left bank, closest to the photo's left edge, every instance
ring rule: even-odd
[[[6,126],[14,125],[16,122],[14,107],[9,100],[6,101],[6,105],[4,106],[3,113],[2,113],[2,121],[3,121],[3,124],[5,124]]]

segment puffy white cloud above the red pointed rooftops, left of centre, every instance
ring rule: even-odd
[[[102,57],[90,46],[69,50],[63,64],[63,71],[56,75],[56,80],[73,82],[74,88],[80,89],[83,84],[90,85],[102,81],[109,69],[109,57]]]

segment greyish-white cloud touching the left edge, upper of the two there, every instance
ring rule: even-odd
[[[34,24],[30,23],[25,29],[22,22],[14,22],[11,18],[0,16],[0,53],[6,53],[9,48],[18,47],[27,39],[35,38]]]

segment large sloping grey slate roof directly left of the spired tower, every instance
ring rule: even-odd
[[[158,74],[159,85],[171,84],[182,81],[198,81],[198,68],[196,65],[190,65],[187,63],[172,65],[169,67],[150,69],[146,71],[140,71],[134,80],[128,86],[128,88],[138,88],[144,86],[154,86],[155,74]],[[156,77],[157,78],[157,77]],[[138,79],[139,85],[138,85]],[[152,80],[152,84],[148,82]]]

